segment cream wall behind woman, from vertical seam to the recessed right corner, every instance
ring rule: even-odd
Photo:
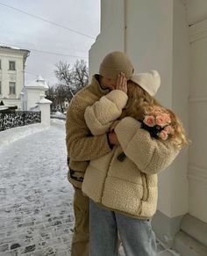
[[[189,42],[184,6],[180,0],[127,3],[126,53],[139,72],[159,70],[161,89],[156,98],[188,128]],[[159,175],[158,209],[168,217],[188,212],[187,162],[185,150]]]

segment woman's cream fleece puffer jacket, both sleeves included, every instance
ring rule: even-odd
[[[127,95],[111,91],[85,112],[85,121],[94,135],[107,132],[125,107]],[[115,133],[120,146],[103,157],[91,160],[82,191],[100,206],[141,219],[154,215],[157,207],[157,173],[166,169],[178,154],[170,141],[152,138],[132,117],[118,122]],[[125,160],[118,155],[125,152]]]

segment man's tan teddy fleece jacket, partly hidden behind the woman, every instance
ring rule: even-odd
[[[66,117],[66,145],[69,167],[75,172],[68,180],[75,187],[82,187],[82,179],[91,159],[102,157],[111,152],[107,135],[92,135],[86,125],[84,113],[87,106],[93,105],[98,99],[109,92],[98,82],[98,75],[92,77],[91,84],[75,94],[71,100]]]

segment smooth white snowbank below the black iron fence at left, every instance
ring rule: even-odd
[[[41,123],[26,125],[23,127],[9,128],[0,132],[0,150],[5,146],[18,139],[24,138],[27,135],[38,133],[48,127],[43,126]]]

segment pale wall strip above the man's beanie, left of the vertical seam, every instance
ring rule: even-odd
[[[125,50],[124,0],[101,2],[101,33],[89,51],[89,80],[98,73],[104,55],[113,50]],[[107,17],[107,18],[106,18]]]

